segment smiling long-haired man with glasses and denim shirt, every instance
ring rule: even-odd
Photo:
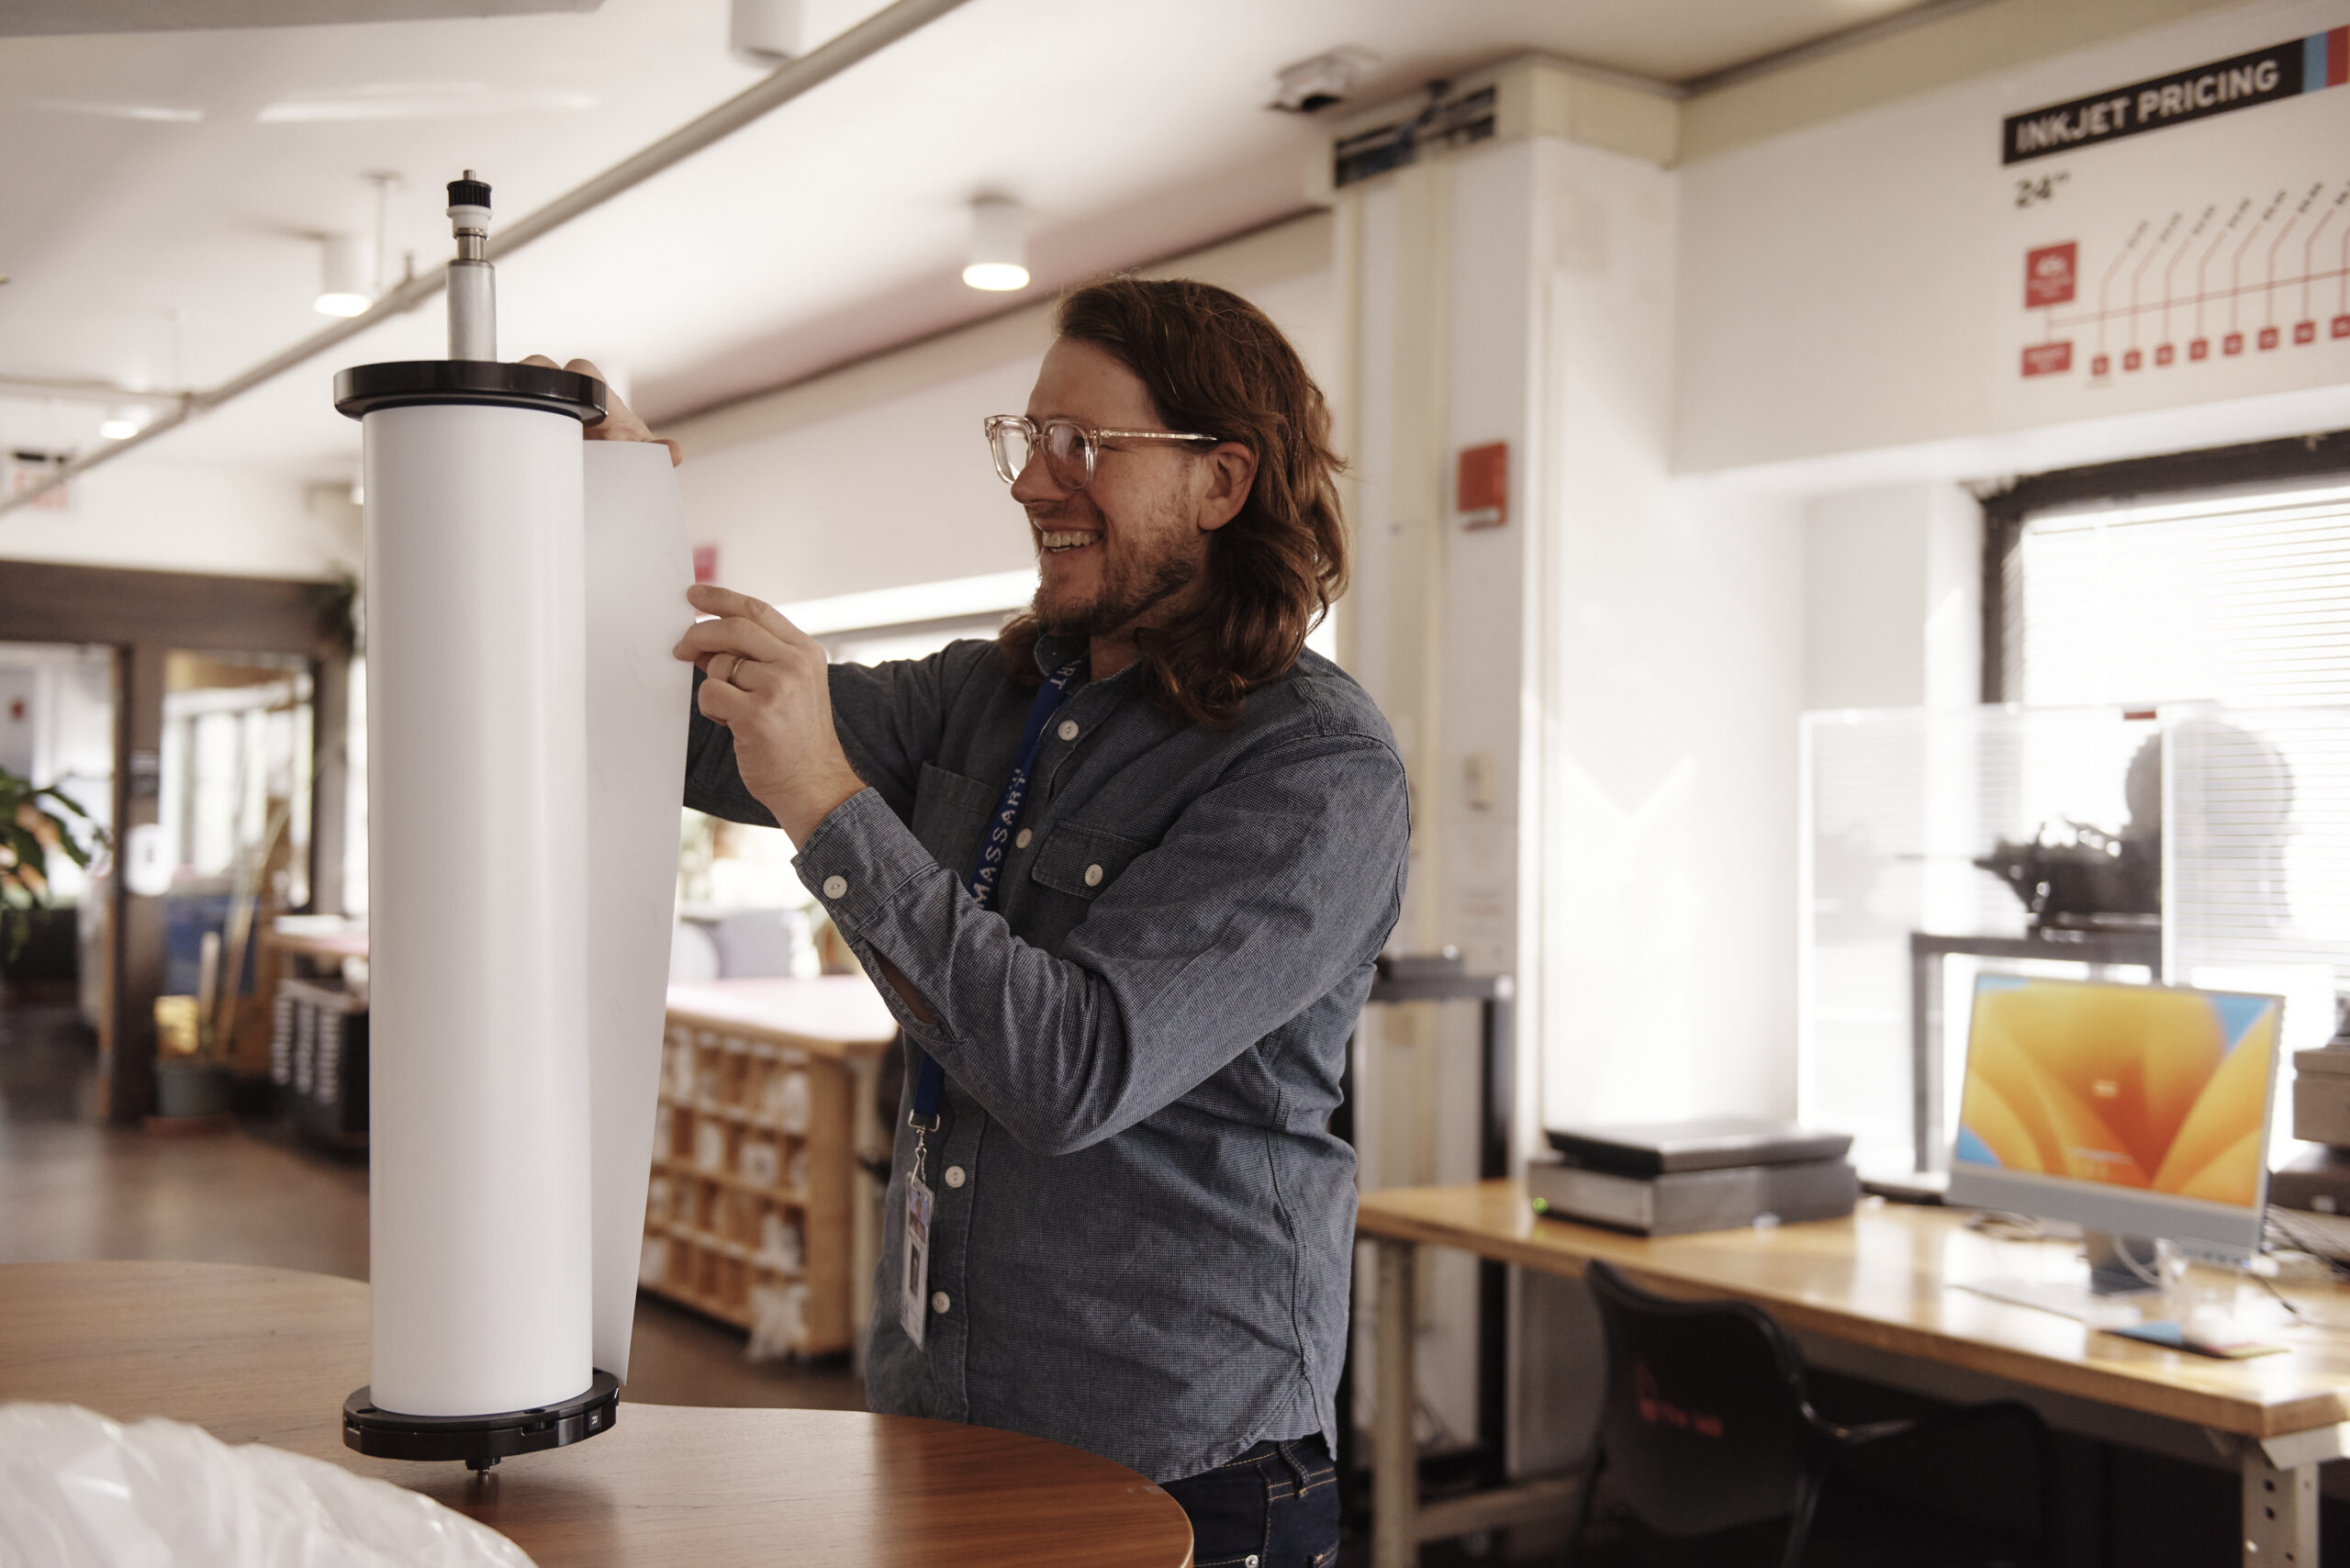
[[[905,1030],[872,1408],[1130,1465],[1201,1568],[1328,1563],[1328,1124],[1410,835],[1386,722],[1304,646],[1347,581],[1330,421],[1224,289],[1116,277],[1058,324],[985,421],[1029,611],[827,668],[696,588],[686,804],[792,835]]]

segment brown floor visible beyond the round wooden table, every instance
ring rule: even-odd
[[[153,1138],[99,1126],[96,1044],[66,1004],[0,1006],[0,1262],[174,1258],[367,1279],[367,1161],[263,1124]],[[747,1361],[743,1333],[637,1298],[625,1399],[862,1410],[848,1368]]]

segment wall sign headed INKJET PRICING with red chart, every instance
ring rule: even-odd
[[[2077,80],[2080,56],[2014,80],[2002,425],[2350,381],[2350,92],[2331,92],[2350,82],[2350,7],[2247,9],[2099,52],[2110,87]],[[2280,21],[2310,26],[2275,38]],[[2272,42],[2176,42],[2228,31]]]

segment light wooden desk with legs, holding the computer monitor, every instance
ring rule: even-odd
[[[1671,1295],[1751,1300],[1798,1335],[2190,1422],[2202,1427],[2216,1453],[2237,1460],[2244,1563],[2317,1563],[2317,1465],[2350,1455],[2350,1333],[2319,1326],[2263,1331],[2263,1338],[2287,1345],[2287,1354],[2214,1361],[1955,1291],[1946,1281],[2014,1272],[2012,1253],[2002,1255],[2002,1248],[2016,1244],[1969,1232],[1967,1218],[1960,1208],[1864,1204],[1849,1220],[1650,1241],[1537,1218],[1525,1185],[1513,1180],[1365,1194],[1356,1232],[1379,1253],[1375,1568],[1408,1568],[1422,1540],[1551,1512],[1572,1500],[1577,1486],[1544,1481],[1419,1505],[1410,1439],[1417,1246],[1457,1246],[1549,1274],[1582,1274],[1589,1260],[1605,1258]],[[2242,1288],[2247,1316],[2265,1321],[2254,1316],[2265,1291]],[[2315,1302],[2315,1314],[2350,1326],[2350,1298],[2338,1291],[2289,1286],[2287,1295]]]

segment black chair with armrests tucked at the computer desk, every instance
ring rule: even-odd
[[[1840,1427],[1812,1408],[1793,1340],[1748,1302],[1652,1295],[1614,1267],[1584,1272],[1607,1331],[1607,1399],[1584,1476],[1570,1561],[1591,1523],[1605,1469],[1633,1519],[1659,1535],[1716,1535],[1786,1519],[1781,1563],[1802,1561],[1828,1472],[1887,1439],[1976,1422],[2019,1422],[2040,1479],[2037,1559],[2052,1549],[2052,1443],[2016,1401]]]

